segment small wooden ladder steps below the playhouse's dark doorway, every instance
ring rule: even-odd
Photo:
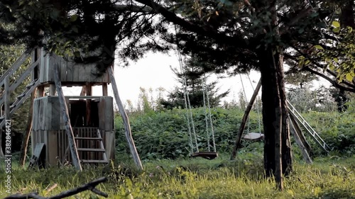
[[[100,152],[102,153],[102,159],[80,159],[81,163],[86,163],[86,164],[94,164],[94,163],[101,163],[101,164],[109,164],[109,161],[107,160],[107,154],[106,154],[106,149],[104,147],[104,142],[102,140],[102,136],[100,133],[100,130],[97,130],[97,137],[75,137],[75,140],[87,140],[88,142],[91,141],[97,141],[99,142],[99,149],[94,149],[94,148],[83,148],[79,147],[77,144],[77,152]],[[78,142],[77,142],[78,143]],[[89,154],[87,155],[89,157]]]

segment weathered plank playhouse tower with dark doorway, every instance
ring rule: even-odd
[[[40,63],[32,74],[33,79],[39,81],[33,103],[32,154],[35,147],[40,146],[45,166],[71,162],[53,77],[54,65],[60,64],[62,86],[82,86],[79,95],[65,96],[80,161],[98,164],[114,159],[114,107],[113,98],[107,96],[109,75],[97,76],[95,64],[77,64],[55,55],[45,55],[43,50],[36,50],[33,57]],[[92,86],[102,86],[102,96],[92,96]]]

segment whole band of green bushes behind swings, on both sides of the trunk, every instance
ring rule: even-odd
[[[217,152],[231,152],[236,139],[244,110],[234,108],[214,108],[212,120]],[[192,110],[195,132],[200,151],[207,150],[207,135],[205,128],[204,109]],[[319,113],[302,114],[308,123],[320,133],[323,140],[335,153],[353,154],[355,152],[355,117],[354,113]],[[186,157],[191,153],[188,135],[186,110],[173,109],[161,112],[133,114],[130,117],[133,139],[141,159],[176,159]],[[256,112],[251,112],[250,122],[245,132],[259,132],[259,120]],[[261,126],[261,131],[262,131]],[[322,149],[306,134],[315,156],[322,154]],[[212,145],[212,140],[210,140]],[[194,142],[195,144],[195,142]],[[242,142],[243,149],[239,152],[262,150],[262,142],[256,149],[253,142]],[[295,143],[293,143],[295,145]],[[116,118],[116,146],[121,154],[129,154],[129,147],[124,137],[124,126],[121,118]],[[295,152],[299,153],[297,149]],[[260,151],[262,154],[262,151]]]

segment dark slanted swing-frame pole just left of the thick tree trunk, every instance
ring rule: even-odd
[[[246,110],[244,112],[243,119],[241,120],[241,125],[239,127],[239,131],[236,134],[236,143],[234,144],[233,152],[231,152],[231,159],[236,158],[236,150],[238,149],[239,144],[241,143],[241,136],[243,135],[244,128],[246,126],[246,120],[248,120],[249,113],[251,111],[251,108],[253,108],[253,104],[256,100],[256,96],[258,96],[260,88],[261,88],[261,79],[259,80],[258,85],[256,86],[256,89],[253,93],[253,96],[251,96],[249,104],[246,107]]]

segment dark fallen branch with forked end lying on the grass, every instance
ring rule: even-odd
[[[89,183],[86,183],[80,187],[73,188],[72,190],[69,191],[63,191],[62,193],[59,193],[58,195],[51,196],[49,198],[45,198],[43,196],[38,195],[38,193],[27,193],[24,195],[21,194],[15,194],[15,195],[9,195],[4,199],[27,199],[27,198],[34,198],[34,199],[60,199],[60,198],[67,198],[69,196],[75,195],[77,193],[83,192],[83,191],[92,191],[96,193],[97,195],[104,196],[105,198],[109,197],[107,193],[104,193],[102,191],[97,190],[95,188],[99,183],[103,183],[107,181],[106,177],[98,178],[97,180],[91,181]]]

